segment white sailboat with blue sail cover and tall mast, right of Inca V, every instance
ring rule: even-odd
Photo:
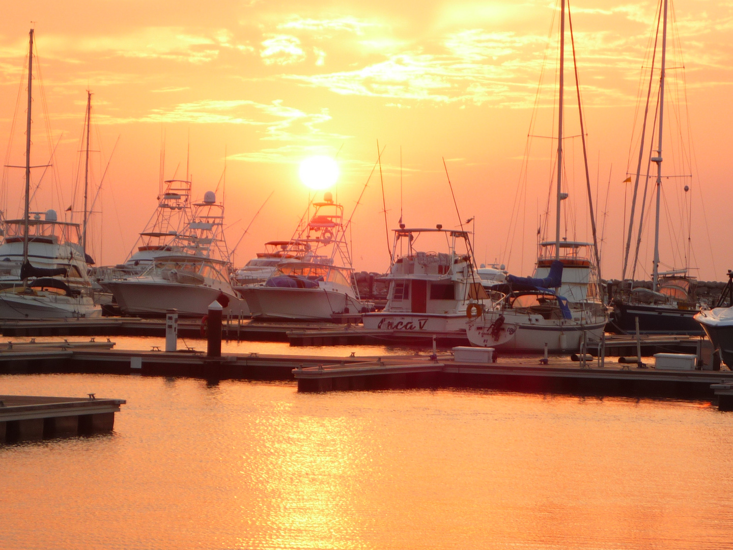
[[[563,192],[563,99],[565,0],[561,0],[559,116],[556,180],[556,232],[554,241],[539,243],[537,264],[532,277],[508,275],[507,281],[489,290],[503,293],[492,309],[482,312],[468,324],[466,334],[471,344],[512,351],[578,351],[589,339],[600,340],[608,320],[600,274],[595,219],[592,210],[590,181],[586,160],[586,184],[591,205],[594,242],[567,241],[561,237],[561,202]],[[568,14],[570,21],[570,14]],[[570,26],[572,37],[572,23]],[[575,59],[575,50],[573,49]],[[578,106],[580,91],[575,71]],[[581,112],[583,153],[586,152]],[[587,155],[583,155],[587,158]]]

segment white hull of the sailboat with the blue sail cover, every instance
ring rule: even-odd
[[[525,316],[526,319],[526,316]],[[491,347],[504,351],[548,351],[574,352],[581,348],[583,332],[586,341],[600,340],[603,336],[605,320],[600,323],[575,323],[572,321],[548,320],[547,323],[516,323],[507,316],[504,323],[506,336],[499,341],[490,334],[490,321],[476,320],[468,326],[466,335],[472,345],[482,348]]]

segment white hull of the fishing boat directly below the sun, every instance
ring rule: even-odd
[[[245,287],[241,290],[252,318],[331,320],[356,314],[364,304],[345,293],[323,288]]]

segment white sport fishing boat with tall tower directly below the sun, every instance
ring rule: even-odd
[[[303,219],[283,250],[296,256],[298,247],[309,246],[309,255],[279,263],[267,281],[240,290],[252,318],[334,321],[371,307],[359,298],[353,276],[344,207],[328,191],[313,206],[313,216]]]

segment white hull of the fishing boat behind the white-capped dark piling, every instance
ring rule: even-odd
[[[165,315],[168,309],[177,309],[179,315],[200,317],[207,315],[209,304],[221,294],[216,288],[171,282],[110,281],[103,286],[127,315]],[[229,298],[224,315],[249,315],[244,300],[224,295]]]

